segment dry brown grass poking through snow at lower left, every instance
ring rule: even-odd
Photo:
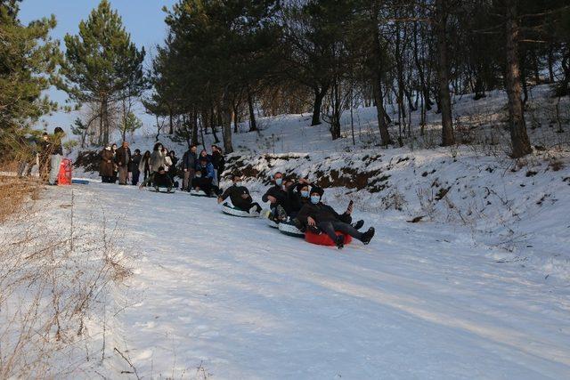
[[[112,354],[110,286],[130,271],[113,231],[74,226],[72,191],[61,207],[41,189],[0,178],[0,378],[91,377]]]

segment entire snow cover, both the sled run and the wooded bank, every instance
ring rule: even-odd
[[[257,201],[277,171],[326,187],[338,210],[353,199],[354,219],[377,230],[368,246],[313,246],[181,191],[50,187],[33,212],[0,226],[6,247],[31,258],[6,279],[54,259],[65,276],[46,277],[59,293],[14,282],[18,306],[0,311],[6,336],[27,327],[22,308],[47,326],[54,303],[65,311],[49,355],[25,346],[22,365],[45,368],[26,367],[29,377],[565,378],[570,128],[566,116],[562,133],[550,126],[553,100],[535,91],[537,147],[520,160],[505,155],[501,93],[456,99],[456,125],[473,128],[460,127],[471,143],[452,148],[436,147],[433,113],[423,136],[412,129],[415,139],[389,149],[375,146],[374,109],[354,112],[354,145],[347,114],[338,141],[307,115],[264,117],[258,133],[241,125],[227,173],[244,174]],[[154,137],[132,142],[147,150]],[[52,248],[37,255],[42,239]]]

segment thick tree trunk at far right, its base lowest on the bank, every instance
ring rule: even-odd
[[[506,0],[506,57],[507,57],[507,94],[509,95],[509,127],[512,144],[512,158],[521,158],[529,154],[531,144],[526,134],[525,114],[521,101],[521,82],[518,64],[518,21],[516,0]]]

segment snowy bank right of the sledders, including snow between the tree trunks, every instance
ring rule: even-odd
[[[226,173],[244,174],[258,198],[277,171],[309,178],[329,189],[325,199],[334,203],[350,198],[368,213],[401,220],[421,216],[421,222],[469,230],[473,244],[503,249],[498,260],[525,263],[550,281],[568,281],[570,222],[560,211],[570,211],[570,101],[561,99],[558,113],[557,102],[548,85],[531,90],[526,117],[537,148],[521,160],[507,157],[506,95],[495,91],[479,101],[455,97],[456,134],[468,144],[445,149],[437,147],[441,125],[434,111],[428,112],[423,135],[419,112],[413,112],[412,137],[403,148],[389,149],[378,147],[374,108],[354,109],[352,125],[346,111],[345,137],[337,141],[331,141],[326,123],[310,126],[309,114],[260,117],[260,131],[248,133],[246,122],[233,135],[236,152],[227,158]],[[136,135],[132,147],[151,150],[154,133]],[[391,125],[390,133],[397,138],[398,126]],[[204,137],[209,150],[214,138]],[[178,157],[187,149],[167,135],[160,141]],[[97,177],[81,169],[77,175]]]

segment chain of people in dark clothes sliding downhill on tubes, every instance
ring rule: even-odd
[[[248,189],[241,185],[240,175],[232,175],[230,186],[218,198],[218,203],[230,198],[232,205],[248,213],[259,213],[261,206],[255,203]],[[293,181],[285,179],[281,172],[273,175],[273,186],[262,197],[264,202],[269,202],[271,213],[268,217],[273,222],[290,222],[300,231],[309,230],[313,233],[327,234],[338,249],[344,247],[344,236],[338,232],[350,235],[364,244],[370,243],[374,237],[374,227],[365,232],[360,229],[364,221],[352,221],[353,202],[351,201],[343,214],[338,214],[331,206],[322,202],[324,190],[319,186],[300,179]]]

